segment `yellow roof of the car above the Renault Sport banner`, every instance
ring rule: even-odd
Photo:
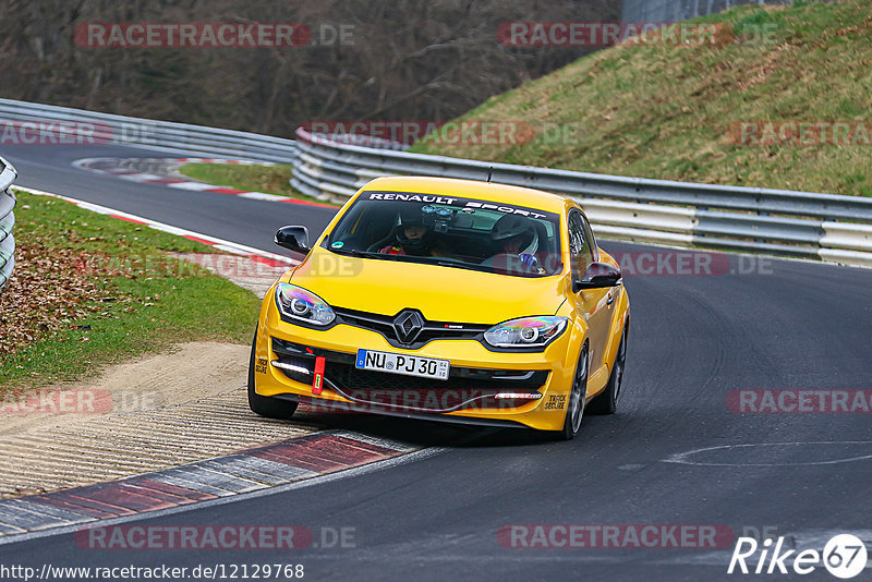
[[[414,194],[437,194],[458,198],[475,198],[486,202],[516,204],[540,210],[561,214],[567,198],[530,187],[511,186],[480,180],[459,180],[456,178],[433,177],[386,177],[376,178],[363,187],[365,192],[407,192]]]

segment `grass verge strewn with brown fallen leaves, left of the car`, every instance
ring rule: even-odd
[[[168,255],[208,246],[16,195],[16,265],[0,295],[0,390],[75,379],[178,342],[251,341],[257,298]]]

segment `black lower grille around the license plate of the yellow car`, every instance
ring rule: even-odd
[[[548,372],[489,369],[452,366],[448,380],[389,374],[354,367],[353,354],[307,348],[272,338],[272,351],[279,364],[305,368],[307,373],[280,368],[302,384],[312,383],[315,357],[326,360],[324,379],[352,402],[391,409],[448,412],[474,408],[516,408],[531,399],[495,399],[499,392],[538,393]]]

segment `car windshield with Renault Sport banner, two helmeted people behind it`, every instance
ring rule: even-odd
[[[364,192],[323,246],[384,260],[516,277],[562,269],[558,215],[474,198]]]

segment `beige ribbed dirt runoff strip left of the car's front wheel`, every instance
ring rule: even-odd
[[[313,432],[249,410],[249,350],[186,343],[96,379],[5,395],[0,497],[111,481]]]

